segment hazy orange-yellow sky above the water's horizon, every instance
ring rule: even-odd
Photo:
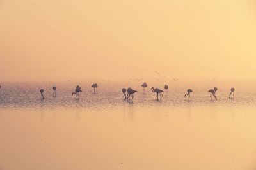
[[[256,79],[250,0],[0,0],[0,81]]]

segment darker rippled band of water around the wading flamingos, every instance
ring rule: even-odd
[[[71,96],[76,85],[82,87],[81,96]],[[48,108],[116,108],[125,107],[127,103],[122,100],[122,88],[132,87],[138,90],[134,94],[134,107],[201,107],[201,106],[254,106],[256,104],[256,84],[251,86],[239,85],[235,90],[235,98],[228,99],[230,86],[218,86],[216,96],[217,101],[209,97],[211,85],[193,85],[186,87],[181,83],[170,85],[168,93],[163,92],[163,99],[156,101],[156,94],[152,93],[150,87],[143,90],[139,83],[102,83],[97,88],[97,94],[93,93],[90,83],[57,83],[57,97],[52,97],[52,86],[56,83],[4,83],[0,89],[1,108],[29,108],[29,109],[48,109]],[[154,84],[153,84],[154,85]],[[155,86],[156,87],[156,86]],[[191,100],[184,98],[186,89],[193,89]],[[45,100],[40,99],[40,89],[44,89]],[[163,88],[162,88],[163,89]],[[164,90],[164,89],[163,89]]]

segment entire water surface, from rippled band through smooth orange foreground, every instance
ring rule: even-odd
[[[56,85],[56,84],[55,84]],[[122,84],[4,83],[0,89],[0,169],[256,169],[255,86],[171,85],[162,101],[149,88],[133,103]],[[45,100],[40,100],[41,88]]]

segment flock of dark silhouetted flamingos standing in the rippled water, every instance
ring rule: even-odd
[[[94,93],[96,93],[96,88],[98,87],[98,85],[97,85],[97,83],[95,83],[95,84],[93,84],[92,85],[92,87],[93,87],[93,89],[94,89]],[[143,83],[142,85],[141,85],[141,87],[143,87],[143,90],[145,90],[145,88],[146,87],[148,87],[148,85],[147,85],[147,83]],[[53,89],[53,96],[55,97],[56,96],[56,86],[54,86],[54,87],[52,87],[52,89]],[[168,89],[169,89],[169,86],[168,85],[164,85],[164,89],[165,89],[165,91],[166,91],[166,93],[168,92]],[[151,88],[151,90],[152,90],[152,92],[153,93],[156,93],[156,100],[157,101],[159,101],[159,100],[161,100],[162,99],[162,97],[163,97],[163,90],[161,90],[161,89],[158,89],[158,88],[154,88],[154,87],[152,87]],[[218,88],[217,87],[214,87],[213,89],[210,89],[208,92],[210,92],[210,97],[211,97],[211,99],[212,99],[212,96],[214,97],[214,99],[215,100],[217,100],[217,97],[216,97],[216,91],[218,90]],[[230,95],[228,96],[228,98],[234,98],[234,91],[235,91],[235,89],[234,89],[234,87],[232,87],[231,89],[230,89]],[[82,90],[81,90],[81,87],[79,86],[79,85],[77,85],[76,86],[76,89],[75,89],[75,92],[72,92],[72,96],[73,95],[76,95],[76,96],[80,96],[80,92],[82,92]],[[128,89],[125,89],[125,88],[123,88],[122,89],[122,92],[123,92],[123,94],[124,94],[124,96],[123,96],[123,98],[124,98],[124,100],[126,100],[127,102],[132,102],[133,101],[133,99],[134,99],[134,94],[136,93],[136,92],[138,92],[138,91],[136,91],[136,90],[133,90],[131,87],[129,87]],[[191,89],[188,89],[187,90],[187,93],[185,94],[185,98],[188,96],[188,99],[190,99],[191,98],[191,92],[193,92],[193,90],[191,90]],[[44,98],[44,89],[40,89],[40,93],[41,93],[41,99],[45,99]]]

